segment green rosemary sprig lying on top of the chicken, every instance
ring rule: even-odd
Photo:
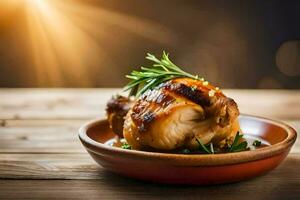
[[[152,66],[141,67],[140,71],[132,71],[130,75],[126,75],[126,78],[131,79],[131,81],[125,86],[124,90],[129,90],[130,96],[138,97],[147,90],[174,78],[189,77],[199,79],[199,76],[189,74],[175,65],[165,51],[163,51],[161,59],[150,53],[147,53],[146,59],[153,62]]]

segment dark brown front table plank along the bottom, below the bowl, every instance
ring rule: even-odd
[[[299,164],[299,162],[291,164]],[[98,180],[0,180],[0,198],[299,199],[299,176],[295,177],[286,170],[282,172],[280,170],[278,168],[267,175],[240,183],[206,187],[158,185],[120,177],[108,172],[103,172]]]

